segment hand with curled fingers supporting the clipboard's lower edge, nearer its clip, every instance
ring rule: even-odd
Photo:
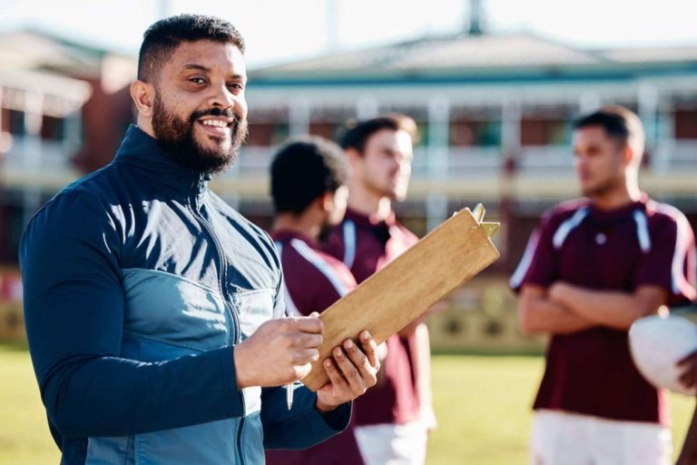
[[[332,358],[322,363],[329,382],[317,391],[319,411],[332,411],[375,386],[380,369],[378,347],[368,331],[361,331],[360,344],[362,351],[348,339],[334,348]]]

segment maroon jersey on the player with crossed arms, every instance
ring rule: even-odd
[[[587,201],[562,203],[545,214],[511,278],[549,287],[564,281],[598,291],[663,287],[670,304],[695,298],[694,236],[684,215],[645,194],[640,202],[604,212]],[[596,327],[554,334],[535,409],[573,411],[611,420],[667,424],[663,391],[634,367],[627,331]]]

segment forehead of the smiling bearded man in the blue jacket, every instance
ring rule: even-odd
[[[176,73],[197,68],[206,72],[247,74],[244,55],[237,45],[210,40],[182,42],[172,53],[169,64]]]

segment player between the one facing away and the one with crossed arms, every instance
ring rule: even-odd
[[[407,195],[416,137],[412,119],[390,115],[353,125],[341,140],[351,166],[348,210],[329,235],[327,250],[358,283],[417,242],[392,210]],[[435,424],[426,325],[410,324],[381,349],[378,385],[354,404],[358,447],[368,465],[423,463],[427,430]]]

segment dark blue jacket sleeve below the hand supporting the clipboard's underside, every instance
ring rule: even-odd
[[[317,394],[295,383],[293,407],[286,402],[286,386],[266,388],[261,392],[261,423],[264,449],[308,449],[345,430],[351,419],[351,403],[336,410],[320,413]]]

